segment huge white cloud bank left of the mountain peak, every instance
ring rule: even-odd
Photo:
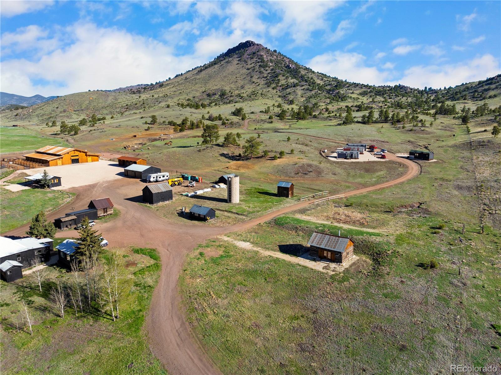
[[[203,56],[173,55],[167,45],[116,28],[76,23],[72,44],[36,61],[2,61],[2,90],[20,95],[64,95],[89,89],[164,80],[206,62]],[[38,85],[34,82],[48,84]]]

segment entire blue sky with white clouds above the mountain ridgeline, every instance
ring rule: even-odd
[[[501,72],[501,2],[0,3],[1,90],[162,81],[245,40],[349,81],[455,86]]]

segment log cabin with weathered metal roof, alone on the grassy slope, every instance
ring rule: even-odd
[[[353,242],[346,237],[313,232],[310,241],[310,256],[344,263],[353,256]]]

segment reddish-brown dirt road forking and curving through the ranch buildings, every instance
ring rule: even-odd
[[[248,127],[244,121],[244,128]],[[297,133],[299,134],[299,133]],[[309,136],[300,134],[302,136]],[[330,142],[335,140],[325,139]],[[406,181],[420,173],[417,163],[408,159],[399,158],[387,153],[390,160],[398,161],[407,167],[407,171],[400,177],[379,183],[368,188],[345,192],[347,197],[384,189],[397,183]],[[269,212],[260,218],[228,227],[207,227],[203,224],[189,222],[179,225],[168,222],[157,216],[145,206],[138,205],[138,195],[144,183],[123,178],[112,181],[103,181],[93,185],[80,186],[72,189],[77,193],[73,202],[48,215],[50,220],[64,215],[70,207],[87,207],[88,202],[95,197],[110,197],[120,210],[119,218],[99,224],[96,227],[111,246],[154,247],[161,256],[162,270],[155,291],[149,314],[146,319],[148,340],[155,356],[165,365],[170,374],[212,374],[220,373],[211,363],[203,348],[192,334],[190,325],[186,322],[181,298],[177,288],[181,267],[188,254],[197,244],[208,238],[216,237],[229,232],[241,231],[264,223],[279,215],[308,206],[311,202],[305,201]],[[24,235],[27,225],[10,231],[4,235]],[[73,237],[75,232],[58,232],[57,237]]]

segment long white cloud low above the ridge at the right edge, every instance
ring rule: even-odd
[[[479,56],[470,61],[448,65],[414,66],[404,72],[404,76],[388,84],[403,84],[423,88],[455,86],[492,77],[501,70],[499,60],[490,54]]]

